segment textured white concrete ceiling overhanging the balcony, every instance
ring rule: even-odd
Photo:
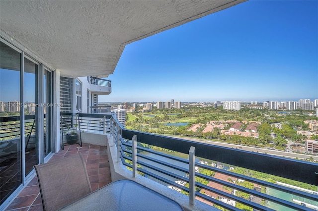
[[[245,0],[1,0],[0,28],[63,76],[114,72],[125,45]]]

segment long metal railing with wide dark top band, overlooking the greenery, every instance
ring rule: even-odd
[[[318,209],[317,204],[315,204],[318,202],[318,192],[316,191],[304,192],[301,191],[301,189],[294,189],[288,185],[270,183],[250,176],[234,173],[230,170],[224,170],[200,163],[196,161],[196,158],[227,163],[231,166],[251,169],[316,186],[318,185],[317,163],[127,130],[123,128],[115,118],[111,118],[110,130],[113,137],[113,144],[117,146],[117,160],[121,160],[125,166],[131,168],[133,176],[136,176],[137,172],[140,172],[159,182],[168,184],[174,187],[175,190],[188,194],[189,204],[193,205],[195,203],[195,197],[198,197],[227,210],[240,210],[239,208],[232,206],[231,203],[226,203],[226,201],[229,202],[230,200],[256,210],[273,210],[267,206],[268,203],[273,203],[293,210],[309,211]],[[144,146],[141,146],[141,144]],[[147,145],[188,154],[189,159],[160,153],[148,149],[145,147]],[[147,155],[144,154],[145,152]],[[161,158],[171,161],[162,161]],[[176,161],[178,164],[171,164],[172,161]],[[203,173],[199,173],[197,169],[199,169],[199,172],[200,169],[206,169],[208,171],[227,175],[229,178],[232,177],[240,179],[241,181],[248,181],[259,187],[264,187],[266,190],[273,189],[286,194],[291,194],[295,198],[302,199],[304,202],[301,200],[288,201],[266,192],[264,193],[257,191],[256,189],[245,188],[230,181],[224,181],[214,176],[207,176]],[[184,177],[182,174],[176,172],[182,172],[187,176]],[[220,190],[220,188],[218,189],[214,186],[198,182],[195,178],[200,178],[200,181],[205,180],[214,184],[219,184],[235,191],[228,193],[222,189]],[[181,183],[175,183],[174,180],[181,181]],[[201,191],[197,191],[196,189],[201,189]],[[239,191],[248,194],[249,198],[244,199],[237,196],[235,193],[238,193]],[[216,194],[218,198],[204,194],[207,192]],[[251,199],[254,197],[258,197],[264,203],[260,204],[253,202]],[[314,204],[305,202],[305,199],[314,202]]]

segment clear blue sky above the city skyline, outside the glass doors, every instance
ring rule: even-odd
[[[250,0],[125,47],[99,102],[318,99],[318,1]]]

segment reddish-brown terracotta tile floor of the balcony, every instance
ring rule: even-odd
[[[51,160],[61,159],[81,153],[86,164],[87,174],[92,191],[111,182],[107,149],[104,146],[78,144],[64,146],[64,150],[56,153]],[[49,161],[49,162],[50,162]],[[42,211],[42,200],[36,176],[8,206],[6,211]]]

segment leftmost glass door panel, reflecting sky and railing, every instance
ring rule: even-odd
[[[0,42],[0,204],[22,183],[21,53]]]

